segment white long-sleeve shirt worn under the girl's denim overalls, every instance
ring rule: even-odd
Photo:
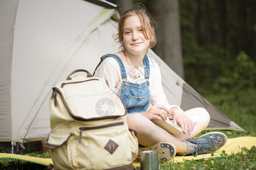
[[[166,95],[163,92],[161,73],[158,64],[150,57],[148,57],[148,61],[150,64],[149,89],[151,93],[151,104],[165,105],[168,109],[173,107],[179,108],[176,105],[170,105],[166,99]],[[125,67],[127,66],[125,65]],[[125,69],[128,70],[127,68]],[[135,69],[134,67],[129,71],[129,73],[126,71],[126,74],[127,82],[138,84],[146,82],[144,77],[144,66],[141,66],[138,69]],[[98,66],[94,76],[108,80],[109,87],[115,92],[115,94],[120,95],[122,77],[120,66],[116,59],[113,57],[104,59],[104,61],[101,62],[101,65]]]

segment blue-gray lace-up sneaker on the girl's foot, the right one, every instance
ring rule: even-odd
[[[226,143],[226,135],[221,132],[210,132],[201,137],[190,139],[188,142],[195,143],[196,147],[185,155],[197,156],[200,154],[214,153],[219,150]]]

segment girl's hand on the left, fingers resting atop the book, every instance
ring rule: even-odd
[[[170,110],[164,105],[153,105],[150,109],[141,114],[149,120],[155,118],[159,121],[166,121],[168,116],[170,116]]]

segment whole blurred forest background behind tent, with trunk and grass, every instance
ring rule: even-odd
[[[154,52],[222,113],[254,134],[256,1],[109,2],[118,5],[120,14],[142,3],[157,23]]]

